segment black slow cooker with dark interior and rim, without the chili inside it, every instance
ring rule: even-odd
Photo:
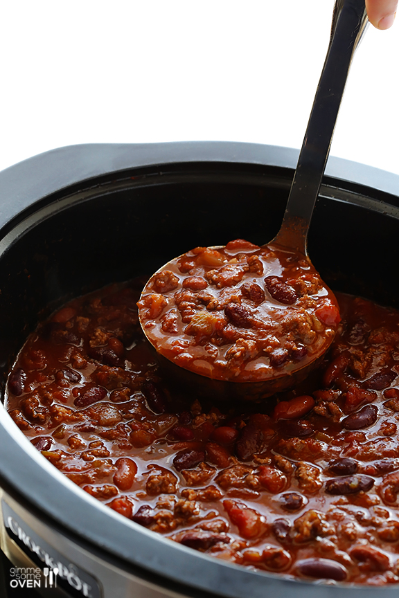
[[[152,273],[195,245],[263,244],[281,223],[293,149],[245,143],[62,147],[0,173],[0,368],[72,296]],[[330,158],[309,234],[332,289],[399,307],[399,176]],[[91,598],[393,597],[284,579],[168,541],[57,471],[0,409],[1,549],[57,566],[57,592]],[[38,588],[50,596],[48,588]],[[28,597],[29,590],[26,590]]]

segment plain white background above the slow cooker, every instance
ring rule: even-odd
[[[0,170],[76,143],[300,147],[333,0],[8,0]],[[399,174],[399,25],[369,26],[331,154]]]

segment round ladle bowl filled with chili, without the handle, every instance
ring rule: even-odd
[[[236,243],[240,245],[240,241],[233,242],[233,244]],[[217,255],[223,255],[227,257],[231,257],[231,255],[234,256],[234,251],[236,251],[236,255],[243,255],[242,253],[239,253],[237,249],[232,250],[230,245],[231,244],[229,244],[227,247],[218,246],[208,249],[211,249]],[[247,278],[243,278],[242,280],[244,284],[222,288],[222,293],[223,291],[227,291],[228,296],[230,293],[233,293],[234,296],[236,294],[240,296],[241,302],[229,303],[226,309],[223,309],[223,307],[217,307],[215,311],[214,307],[211,307],[211,304],[208,304],[207,308],[205,308],[204,305],[199,305],[199,311],[195,312],[195,315],[190,320],[190,324],[187,327],[184,324],[181,325],[179,334],[169,334],[163,329],[163,318],[165,318],[165,314],[171,313],[169,312],[168,305],[163,309],[161,312],[161,318],[157,318],[157,321],[154,321],[152,318],[148,318],[148,310],[145,309],[145,305],[152,306],[152,298],[154,298],[155,301],[157,301],[159,298],[159,294],[156,292],[154,293],[154,289],[157,288],[157,280],[165,280],[164,278],[158,279],[159,275],[172,275],[176,277],[176,280],[179,279],[178,287],[177,289],[171,289],[168,293],[164,293],[162,298],[166,300],[169,305],[171,304],[173,306],[172,311],[177,311],[176,307],[174,307],[175,296],[178,296],[179,294],[181,295],[181,293],[184,292],[186,280],[190,280],[190,278],[192,278],[190,276],[185,278],[186,275],[181,273],[180,266],[182,260],[187,260],[187,258],[190,260],[193,252],[183,254],[175,258],[175,260],[172,260],[172,262],[168,262],[168,264],[162,266],[159,271],[152,275],[141,294],[141,301],[139,302],[141,327],[145,331],[145,334],[157,355],[159,365],[168,375],[168,377],[174,380],[178,386],[189,388],[191,393],[194,392],[195,395],[199,397],[212,397],[213,399],[222,400],[238,397],[240,399],[253,401],[274,395],[275,392],[282,392],[283,390],[300,383],[303,381],[303,379],[305,379],[305,377],[308,376],[310,371],[315,368],[323,359],[323,355],[326,353],[335,337],[335,332],[339,324],[339,308],[335,300],[335,296],[333,296],[332,291],[328,289],[326,284],[322,284],[319,289],[314,289],[312,291],[314,294],[311,297],[307,294],[304,298],[298,296],[299,302],[296,302],[296,300],[294,301],[294,304],[297,303],[297,305],[283,305],[283,303],[281,303],[279,300],[276,300],[276,298],[268,293],[266,285],[264,285],[265,291],[261,291],[264,292],[264,300],[260,301],[258,305],[254,305],[252,300],[247,300],[248,298],[245,297],[245,293],[243,291],[245,284],[252,285],[254,283],[254,286],[258,287],[260,290],[260,285],[263,284],[265,275],[269,275],[268,278],[274,278],[273,274],[276,273],[276,271],[278,271],[280,266],[283,266],[283,264],[290,268],[289,270],[287,269],[289,275],[293,275],[293,273],[298,272],[300,275],[304,275],[306,280],[309,280],[308,277],[314,276],[314,278],[317,278],[317,284],[319,284],[319,274],[314,269],[312,264],[310,264],[310,260],[305,259],[305,256],[303,255],[298,255],[295,251],[288,251],[287,248],[278,248],[278,246],[264,246],[258,248],[257,250],[251,248],[248,251],[249,254],[247,255],[256,255],[257,257],[259,256],[261,258],[261,263],[264,266],[265,271],[263,271],[263,273],[260,275],[259,273],[250,271],[246,272],[244,277]],[[199,257],[202,257],[201,254],[199,254]],[[300,265],[295,261],[297,257],[301,257]],[[292,264],[290,264],[291,258],[293,258]],[[270,260],[270,262],[268,262],[268,260]],[[233,266],[236,265],[234,259],[232,262]],[[241,263],[244,264],[244,266],[246,265],[245,260],[243,260],[242,257],[238,266],[240,266]],[[230,267],[229,262],[226,265],[227,268]],[[213,269],[212,266],[202,267],[205,271],[204,278],[197,278],[200,276],[200,274],[197,273],[198,268],[194,269],[194,278],[197,278],[197,280],[202,280],[204,284],[206,284],[204,279],[208,275],[222,272],[220,269]],[[189,274],[191,273],[192,271]],[[267,278],[265,280],[267,280]],[[299,279],[297,282],[301,282],[301,279]],[[283,284],[285,283],[283,282]],[[293,290],[293,287],[287,288]],[[215,289],[214,285],[206,287],[204,296],[201,297],[201,293],[197,295],[202,302],[209,301],[209,297],[213,296],[217,298],[217,302],[219,300],[221,303],[223,302],[223,295],[221,294],[220,297],[218,296],[218,290]],[[301,323],[303,323],[303,320],[301,319],[303,318],[303,307],[301,307],[301,301],[308,301],[310,302],[310,305],[313,304],[312,311],[310,312],[309,309],[309,314],[306,312],[305,316],[308,318],[310,323],[312,323],[312,320],[313,322],[314,320],[317,322],[319,325],[318,332],[321,334],[317,334],[317,332],[314,332],[313,329],[307,329],[306,332],[303,332],[301,335],[300,331],[296,330],[296,326],[301,326]],[[252,314],[254,321],[252,325],[249,325],[249,327],[246,327],[245,323],[243,323],[243,327],[237,327],[234,329],[234,340],[227,340],[226,342],[222,343],[222,346],[218,347],[218,340],[220,340],[220,337],[218,338],[218,334],[221,335],[222,339],[229,339],[231,330],[229,331],[227,328],[228,332],[225,333],[224,329],[222,329],[222,331],[218,333],[217,330],[211,328],[209,337],[205,338],[207,333],[204,332],[204,334],[202,334],[201,332],[202,318],[204,318],[206,322],[205,329],[208,318],[211,320],[211,322],[213,322],[213,318],[215,318],[216,322],[222,319],[224,320],[224,325],[229,327],[229,325],[231,326],[231,321],[229,322],[230,317],[228,310],[231,305],[233,305],[233,307],[242,307],[244,310],[248,309],[248,314]],[[332,313],[333,318],[336,319],[334,319],[333,322],[325,322],[322,325],[320,320],[317,318],[317,315],[319,314],[317,308],[323,309],[324,307],[325,309],[326,306],[328,306],[328,314],[330,315],[330,313]],[[290,316],[293,316],[295,321],[293,327],[284,329],[284,325],[282,326],[281,322],[279,321],[279,314],[282,314],[283,318],[287,316],[287,308],[290,309]],[[152,309],[152,307],[150,309]],[[197,314],[199,315],[197,316]],[[275,321],[273,321],[274,314],[278,314]],[[184,311],[181,312],[181,317],[185,317]],[[190,336],[190,332],[188,332],[188,328],[193,326],[195,318],[199,320],[200,326],[199,338],[201,338],[201,342],[199,343],[197,342],[198,338],[193,341],[193,336]],[[271,325],[274,327],[272,330],[268,329],[267,326],[263,326],[264,321],[269,323],[270,320],[272,322]],[[294,334],[295,331],[297,344],[296,348],[292,349],[292,351],[294,351],[293,354],[290,350],[290,359],[285,346],[292,347],[292,334]],[[277,354],[274,355],[274,349],[272,347],[274,347],[276,337],[279,333],[281,334],[279,337],[281,345],[278,345]],[[238,364],[237,362],[235,363],[234,361],[231,361],[227,355],[229,352],[236,350],[237,345],[234,344],[234,341],[237,340],[236,337],[240,336],[238,339],[238,345],[240,345],[240,341],[243,340],[245,342],[248,338],[254,338],[254,334],[258,334],[260,339],[259,343],[256,343],[256,354],[250,356],[249,359],[245,358],[242,362],[240,359],[238,359]],[[214,338],[214,335],[216,336],[216,339]],[[313,335],[315,337],[314,340],[312,340],[312,336],[310,336],[310,339],[306,340],[305,337],[308,335]],[[287,340],[287,345],[284,343],[285,339]],[[188,348],[186,351],[181,352],[181,346],[190,341],[193,343],[193,348],[191,350]],[[214,357],[214,359],[209,356],[211,351],[209,351],[208,346],[212,343],[212,349],[215,352],[218,351],[218,354]],[[178,348],[177,352],[175,353],[176,344]],[[265,352],[263,352],[263,347],[265,347]],[[260,352],[259,349],[261,349]],[[187,353],[192,353],[193,359],[186,359]],[[267,354],[269,356],[267,356]],[[282,360],[281,363],[280,360]],[[272,368],[272,365],[276,365],[276,368]]]

